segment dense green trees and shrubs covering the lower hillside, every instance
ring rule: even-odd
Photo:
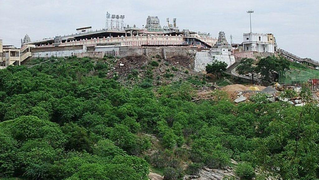
[[[195,103],[189,83],[128,89],[107,69],[70,58],[0,71],[0,177],[143,180],[151,165],[178,179],[233,158],[244,174],[318,178],[317,106],[234,105],[218,91]]]

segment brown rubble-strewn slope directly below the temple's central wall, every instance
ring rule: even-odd
[[[156,56],[132,55],[117,59],[114,63],[108,77],[117,75],[124,86],[132,86],[145,79],[152,79],[153,85],[185,81],[195,75],[202,79],[201,74],[193,70],[194,58],[188,56],[175,55],[165,60]]]

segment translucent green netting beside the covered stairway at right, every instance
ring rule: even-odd
[[[315,69],[291,69],[279,73],[278,82],[280,84],[301,84],[309,79],[319,79],[319,70]]]

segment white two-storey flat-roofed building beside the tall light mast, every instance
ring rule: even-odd
[[[276,51],[276,40],[273,34],[243,34],[243,51],[272,52]]]

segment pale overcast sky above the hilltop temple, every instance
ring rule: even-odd
[[[105,27],[105,14],[125,14],[125,23],[145,25],[148,15],[177,18],[180,29],[209,32],[242,42],[252,31],[273,33],[279,48],[319,61],[319,0],[0,0],[0,39],[20,47],[28,34],[32,41],[76,32],[77,27]]]

